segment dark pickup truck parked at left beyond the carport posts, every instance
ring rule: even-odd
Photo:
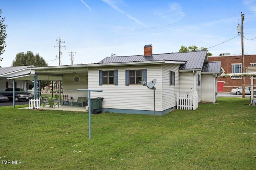
[[[0,92],[2,95],[7,96],[9,100],[13,100],[13,88],[6,88],[4,92]],[[15,88],[15,102],[19,102],[20,100],[32,99],[33,96],[31,93],[25,92],[22,88]]]

